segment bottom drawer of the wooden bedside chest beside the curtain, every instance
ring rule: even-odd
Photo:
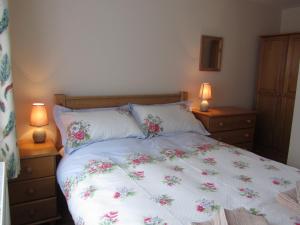
[[[13,225],[27,224],[56,216],[56,198],[11,206]]]

